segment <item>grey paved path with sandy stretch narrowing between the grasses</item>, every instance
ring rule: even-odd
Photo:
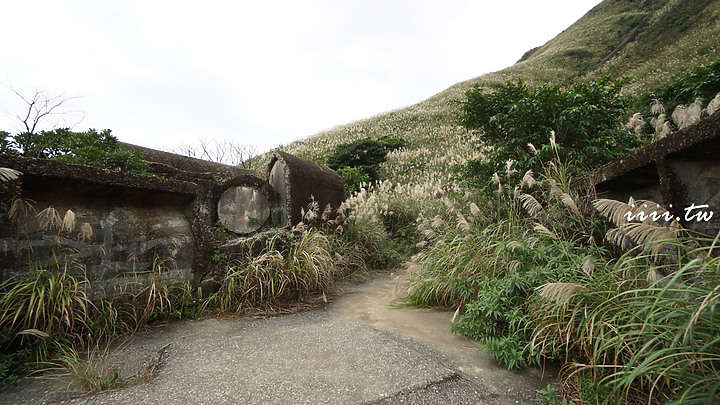
[[[130,374],[161,351],[150,383],[82,396],[68,377],[26,379],[0,403],[514,404],[547,384],[450,334],[452,313],[389,308],[406,279],[372,276],[323,310],[156,328],[109,360]]]

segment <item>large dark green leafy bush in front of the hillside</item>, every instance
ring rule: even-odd
[[[459,102],[461,124],[481,133],[483,159],[458,167],[457,173],[470,183],[487,187],[493,173],[501,173],[505,162],[516,161],[520,170],[541,171],[542,162],[557,154],[585,168],[598,167],[640,145],[621,129],[627,101],[620,90],[627,79],[605,77],[598,81],[559,85],[526,86],[522,80],[508,82],[494,92],[476,87]],[[558,148],[550,145],[555,133]],[[528,144],[537,149],[529,153]]]

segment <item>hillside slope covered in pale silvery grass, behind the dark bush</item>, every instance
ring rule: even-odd
[[[644,24],[634,40],[600,64],[641,22]],[[394,135],[408,142],[404,151],[391,156],[394,168],[411,169],[413,162],[424,161],[425,172],[436,176],[437,170],[444,172],[474,153],[467,148],[471,141],[467,131],[457,125],[456,106],[449,103],[462,98],[473,86],[492,88],[519,78],[531,85],[570,83],[612,74],[636,77],[628,91],[651,90],[720,57],[718,37],[720,1],[606,0],[511,67],[458,83],[413,106],[342,125],[284,149],[322,163],[336,145],[362,137]],[[392,177],[396,182],[407,180]]]

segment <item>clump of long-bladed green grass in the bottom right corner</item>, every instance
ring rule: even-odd
[[[716,241],[661,243],[674,248],[629,252],[584,282],[586,290],[568,304],[540,300],[535,342],[565,347],[577,363],[595,365],[597,390],[613,403],[636,396],[717,403],[720,259],[709,254]],[[669,275],[658,276],[659,269]]]

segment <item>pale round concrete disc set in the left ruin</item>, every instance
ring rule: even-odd
[[[220,196],[218,219],[235,233],[251,233],[262,228],[270,216],[270,202],[262,191],[248,187],[231,187]]]

